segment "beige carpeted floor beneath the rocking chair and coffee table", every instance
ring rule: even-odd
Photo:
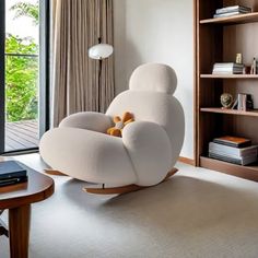
[[[20,160],[42,169],[36,154]],[[30,257],[258,257],[258,184],[177,167],[171,180],[119,197],[55,177],[55,196],[33,206]],[[0,258],[8,257],[0,237]]]

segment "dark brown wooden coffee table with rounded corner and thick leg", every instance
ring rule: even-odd
[[[0,235],[9,236],[11,258],[27,258],[31,204],[54,194],[50,177],[23,166],[27,169],[27,183],[0,187],[0,214],[9,209],[9,230],[0,220]]]

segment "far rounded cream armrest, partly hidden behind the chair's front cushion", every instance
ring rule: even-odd
[[[81,112],[66,117],[59,127],[73,127],[91,131],[106,132],[113,126],[109,116],[96,112]]]

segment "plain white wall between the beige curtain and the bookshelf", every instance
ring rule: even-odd
[[[116,93],[139,64],[163,62],[178,77],[186,117],[181,156],[194,159],[194,1],[114,0]]]

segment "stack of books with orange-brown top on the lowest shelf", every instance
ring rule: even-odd
[[[257,161],[258,145],[238,137],[221,137],[209,143],[209,157],[238,165],[248,165]]]

